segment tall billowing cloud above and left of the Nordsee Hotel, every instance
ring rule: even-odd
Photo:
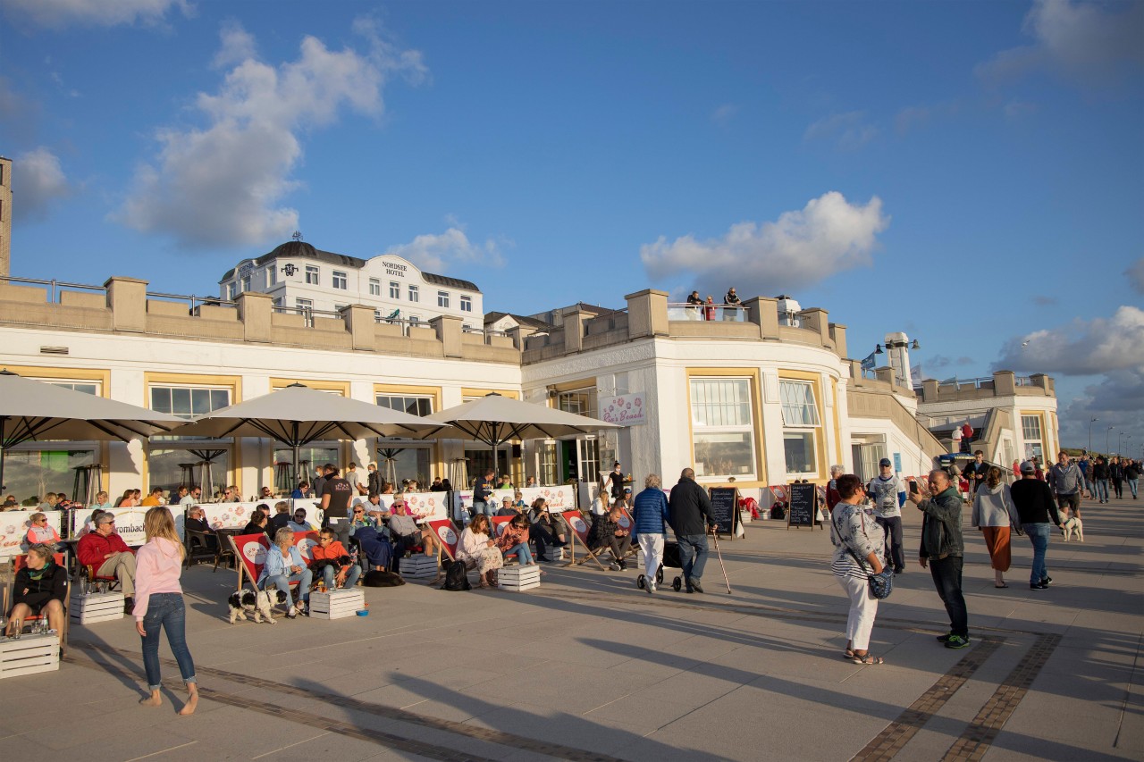
[[[345,108],[380,116],[389,76],[423,74],[418,54],[394,50],[375,29],[367,31],[364,53],[329,50],[305,37],[295,61],[238,63],[217,93],[198,95],[205,126],[158,130],[158,156],[136,169],[113,219],[186,246],[265,244],[296,229],[297,211],[280,204],[299,184],[292,177],[302,157],[299,135],[335,121]],[[224,56],[253,50],[244,34],[224,27]]]

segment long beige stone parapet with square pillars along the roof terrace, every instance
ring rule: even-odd
[[[466,328],[452,316],[428,323],[390,319],[350,304],[337,311],[277,307],[261,293],[233,300],[148,291],[148,281],[116,276],[102,286],[0,278],[0,325],[94,331],[186,340],[269,343],[339,351],[531,364],[644,338],[773,341],[818,347],[845,357],[844,325],[818,308],[780,322],[778,300],[758,296],[739,308],[668,303],[662,291],[628,294],[627,307],[597,315],[567,308],[553,331]]]

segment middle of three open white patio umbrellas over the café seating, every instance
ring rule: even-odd
[[[292,383],[216,410],[174,431],[188,437],[270,437],[294,450],[294,483],[303,445],[321,439],[432,436],[447,423]]]

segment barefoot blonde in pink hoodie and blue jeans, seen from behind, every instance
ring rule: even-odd
[[[140,699],[144,706],[159,706],[159,629],[167,630],[178,672],[190,692],[178,714],[192,714],[199,703],[194,684],[194,660],[186,650],[186,609],[178,576],[183,571],[183,545],[175,534],[175,521],[165,506],[151,508],[143,518],[146,545],[135,555],[135,629],[143,637],[143,668],[146,670],[148,690]]]

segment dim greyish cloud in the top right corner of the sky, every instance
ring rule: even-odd
[[[1107,82],[1125,65],[1144,63],[1144,3],[1113,7],[1071,0],[1036,0],[1022,31],[1033,43],[1002,50],[977,66],[988,81],[1051,70],[1087,85]]]

